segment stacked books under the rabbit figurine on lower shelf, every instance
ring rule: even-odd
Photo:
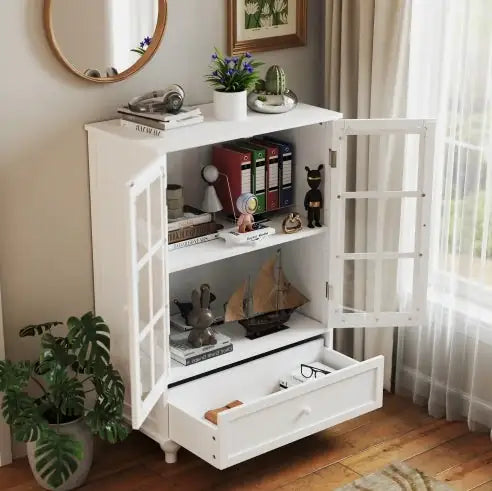
[[[189,332],[178,331],[171,327],[171,335],[169,336],[171,358],[182,365],[193,365],[200,361],[230,353],[233,349],[231,339],[220,333],[215,334],[217,344],[193,348],[188,343],[189,334]]]

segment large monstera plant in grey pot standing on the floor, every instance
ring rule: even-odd
[[[115,443],[128,435],[125,387],[110,363],[109,328],[88,312],[61,322],[30,325],[21,337],[41,336],[36,362],[0,361],[2,413],[17,441],[27,442],[34,477],[45,489],[74,489],[92,464],[93,434]],[[29,382],[39,389],[27,392]],[[92,402],[89,402],[92,401]]]

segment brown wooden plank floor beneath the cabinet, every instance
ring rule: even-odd
[[[428,416],[387,395],[384,408],[279,450],[218,471],[184,449],[168,465],[157,444],[135,432],[97,446],[86,490],[330,490],[404,461],[458,490],[492,490],[492,444],[465,423]],[[0,489],[38,489],[25,459],[0,469]]]

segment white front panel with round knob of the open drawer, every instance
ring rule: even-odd
[[[382,406],[383,357],[219,415],[228,467]]]

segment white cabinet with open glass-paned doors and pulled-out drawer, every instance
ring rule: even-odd
[[[86,126],[95,310],[111,328],[112,359],[126,384],[125,416],[133,428],[159,442],[169,463],[183,446],[225,469],[381,407],[383,357],[351,359],[333,349],[332,335],[350,327],[418,325],[424,315],[434,123],[348,120],[305,104],[286,114],[221,122],[211,105],[201,109],[204,123],[162,138],[121,127],[119,120]],[[305,166],[324,164],[324,226],[283,234],[279,217],[272,222],[278,233],[255,247],[214,240],[168,251],[167,183],[182,184],[186,202],[199,207],[200,170],[211,163],[211,146],[263,134],[295,145],[294,208],[301,215]],[[349,138],[381,173],[366,180],[370,185],[359,186],[351,173],[347,178]],[[378,157],[378,145],[391,138],[403,150],[410,143],[418,148],[405,152],[415,177],[408,186],[387,184],[392,161],[384,152]],[[395,210],[400,226],[388,227]],[[371,247],[347,246],[354,226],[373,234]],[[399,247],[403,236],[410,246]],[[232,338],[232,352],[190,366],[172,361],[171,299],[189,299],[206,282],[222,305],[277,249],[287,277],[310,299],[289,328],[249,340],[241,326],[226,324],[219,330]],[[386,292],[397,291],[401,264],[409,281],[405,305],[397,308]],[[353,302],[357,281],[364,281],[364,309],[355,308],[360,299]],[[315,360],[336,370],[279,390],[283,375]],[[232,400],[243,404],[219,414],[216,425],[204,418]]]

